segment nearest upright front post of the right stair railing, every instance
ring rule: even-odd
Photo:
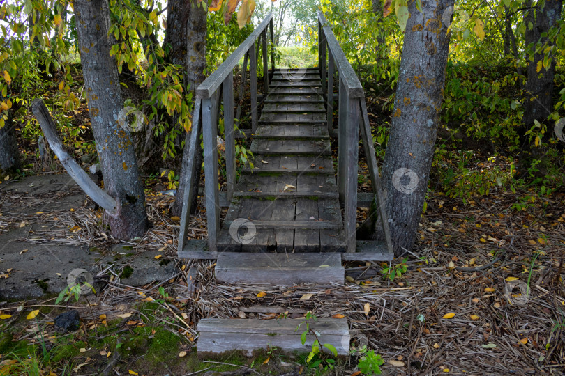
[[[357,175],[359,169],[359,98],[347,97],[347,117],[345,118],[345,146],[347,150],[347,177],[345,178],[344,226],[346,230],[347,252],[355,252],[355,232],[357,225]]]

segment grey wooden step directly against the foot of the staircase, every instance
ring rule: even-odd
[[[225,283],[338,283],[345,268],[340,253],[232,253],[218,254],[216,279]]]

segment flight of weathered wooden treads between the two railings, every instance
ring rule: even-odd
[[[345,251],[321,87],[317,69],[274,72],[218,251]]]

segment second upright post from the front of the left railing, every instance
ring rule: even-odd
[[[224,138],[227,199],[232,200],[235,185],[234,75],[228,75],[224,90]]]

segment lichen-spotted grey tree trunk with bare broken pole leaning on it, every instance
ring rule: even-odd
[[[104,187],[116,199],[118,211],[106,214],[112,235],[130,240],[148,228],[145,194],[130,132],[119,125],[123,109],[118,69],[107,38],[107,0],[75,0],[84,91],[89,104]]]

